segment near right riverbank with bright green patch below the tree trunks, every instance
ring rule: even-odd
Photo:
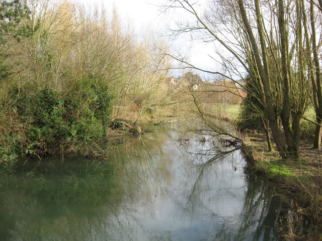
[[[265,135],[248,133],[243,149],[247,171],[264,178],[292,210],[278,223],[286,240],[322,240],[321,155],[310,145],[301,145],[299,162],[283,161],[277,151],[268,152]]]

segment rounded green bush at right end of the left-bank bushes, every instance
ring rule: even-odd
[[[69,132],[68,138],[88,143],[106,137],[113,98],[100,78],[78,79],[72,86],[72,91],[64,97],[65,118],[68,120],[65,130]]]

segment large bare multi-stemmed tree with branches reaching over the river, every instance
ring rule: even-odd
[[[229,58],[220,55],[226,71],[235,70],[238,74],[244,70],[258,80],[255,86],[260,95],[255,97],[263,103],[276,147],[282,158],[294,159],[299,156],[300,121],[308,92],[306,65],[299,61],[304,59],[302,42],[306,40],[301,36],[301,11],[294,11],[303,7],[298,3],[216,0],[208,2],[204,15],[199,15],[196,3],[189,0],[166,4],[169,9],[185,10],[194,19],[178,25],[174,33],[196,33],[203,41],[217,44],[230,53]],[[238,61],[238,67],[232,59]],[[201,70],[227,76],[227,72]]]

